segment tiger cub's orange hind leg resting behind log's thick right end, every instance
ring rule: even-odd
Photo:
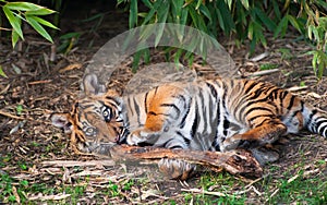
[[[235,134],[226,138],[220,145],[222,152],[238,147],[253,148],[276,142],[280,136],[287,134],[287,126],[279,119],[269,119],[262,124],[242,134]]]

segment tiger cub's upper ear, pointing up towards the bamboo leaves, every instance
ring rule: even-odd
[[[102,95],[106,93],[106,86],[99,83],[97,75],[87,74],[83,79],[83,91],[87,96]]]

